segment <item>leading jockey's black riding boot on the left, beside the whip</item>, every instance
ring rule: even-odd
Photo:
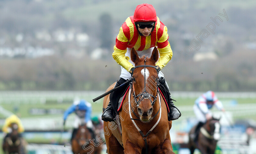
[[[124,82],[126,82],[127,80],[120,78],[117,82],[114,88],[116,88],[117,86],[123,84]],[[113,93],[113,92],[112,92]],[[111,96],[111,95],[110,95]],[[107,108],[105,109],[105,111],[103,112],[102,116],[101,116],[101,120],[103,121],[114,121],[114,110],[113,107],[111,105],[111,102],[108,103]]]

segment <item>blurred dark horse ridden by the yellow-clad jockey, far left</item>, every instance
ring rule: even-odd
[[[3,142],[3,151],[8,154],[25,154],[26,142],[18,133],[18,125],[12,123],[10,128],[12,129],[12,132],[6,135],[5,141]]]

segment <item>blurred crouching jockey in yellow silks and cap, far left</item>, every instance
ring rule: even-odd
[[[2,131],[4,132],[4,141],[7,137],[9,137],[12,128],[11,125],[15,123],[18,125],[18,133],[19,133],[19,137],[22,137],[21,133],[24,132],[24,127],[20,121],[20,118],[18,118],[15,114],[11,115],[10,117],[5,119],[5,124],[2,128]]]

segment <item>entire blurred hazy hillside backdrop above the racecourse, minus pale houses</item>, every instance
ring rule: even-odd
[[[105,90],[119,79],[120,66],[112,52],[120,26],[133,15],[141,2],[105,0],[3,0],[0,1],[0,48],[47,47],[56,54],[35,59],[1,58],[0,90]],[[168,27],[173,58],[162,70],[170,89],[187,91],[255,91],[255,1],[225,3],[221,0],[150,0],[158,17]],[[162,5],[165,4],[165,5]],[[190,46],[210,17],[226,10],[229,21],[216,26],[215,34],[201,42],[199,51],[182,52]],[[37,31],[56,30],[87,33],[86,46],[75,41],[56,42],[35,39]],[[17,42],[16,35],[24,34]],[[4,40],[4,41],[2,41]],[[93,60],[96,48],[104,49],[101,59]],[[74,56],[73,51],[83,54]],[[215,60],[194,61],[195,54],[214,52]],[[186,55],[186,56],[184,56]]]

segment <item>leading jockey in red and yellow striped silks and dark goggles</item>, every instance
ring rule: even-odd
[[[130,51],[134,47],[138,56],[150,57],[155,46],[158,47],[160,58],[156,63],[159,72],[159,82],[163,83],[169,92],[169,86],[160,71],[172,58],[172,49],[168,41],[167,27],[156,16],[155,8],[150,4],[138,5],[134,15],[126,19],[116,37],[116,45],[112,54],[116,62],[121,65],[120,79],[115,87],[129,80],[134,71],[134,63],[130,60]],[[161,81],[160,81],[161,80]],[[174,106],[170,95],[168,120],[176,120],[180,117],[180,112]],[[108,107],[102,114],[103,121],[113,120],[113,108],[109,102]]]

